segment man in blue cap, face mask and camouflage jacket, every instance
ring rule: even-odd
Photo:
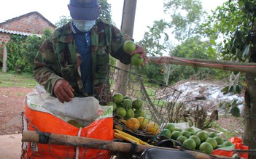
[[[139,53],[147,62],[141,46],[131,54],[123,43],[132,40],[114,25],[101,20],[97,0],[70,0],[71,21],[47,38],[35,57],[34,78],[60,102],[73,97],[95,96],[104,87],[109,54],[124,64]]]

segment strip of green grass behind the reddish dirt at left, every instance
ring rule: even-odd
[[[32,75],[0,72],[0,87],[18,86],[33,88],[36,84]]]

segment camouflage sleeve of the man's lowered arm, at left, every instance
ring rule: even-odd
[[[54,95],[53,86],[55,86],[55,83],[61,79],[61,77],[57,75],[58,67],[56,65],[58,64],[58,60],[55,58],[55,54],[53,52],[53,44],[49,41],[49,39],[44,41],[40,47],[34,62],[35,80],[40,85],[44,86],[46,91]]]

